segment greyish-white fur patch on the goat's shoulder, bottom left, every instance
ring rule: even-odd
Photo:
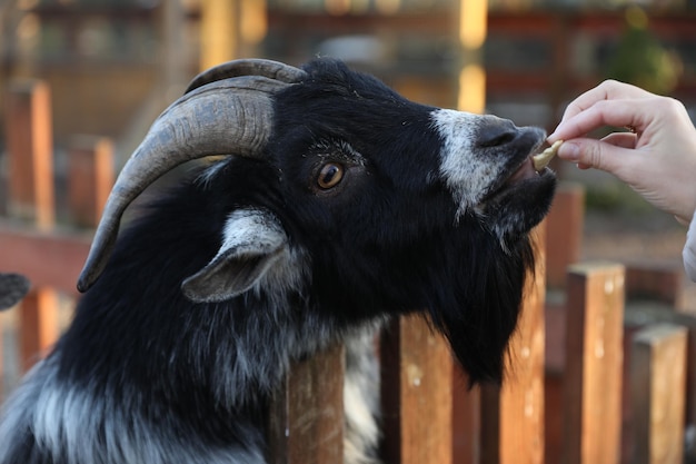
[[[34,367],[8,401],[0,423],[0,462],[8,462],[18,433],[31,430],[37,446],[56,462],[169,464],[262,464],[260,448],[213,447],[177,436],[165,424],[143,417],[138,407],[117,405],[95,386],[67,385],[49,358]],[[127,394],[127,391],[121,392]],[[122,398],[127,403],[135,398]],[[133,405],[140,406],[137,401]],[[192,438],[193,436],[193,438]]]

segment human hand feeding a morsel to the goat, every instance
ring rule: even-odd
[[[601,140],[603,126],[629,128]],[[696,128],[684,105],[638,87],[606,80],[576,98],[549,142],[566,140],[558,157],[628,184],[656,207],[689,223],[696,209]]]

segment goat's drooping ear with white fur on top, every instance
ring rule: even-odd
[[[282,255],[288,239],[278,219],[259,210],[237,210],[225,227],[218,254],[181,284],[186,297],[213,303],[249,290]]]

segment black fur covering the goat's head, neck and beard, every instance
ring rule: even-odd
[[[291,358],[426,308],[473,383],[501,381],[534,268],[527,231],[549,206],[553,177],[497,197],[487,216],[458,215],[438,176],[444,141],[429,116],[435,108],[337,61],[306,70],[310,79],[277,96],[268,161],[232,157],[212,174],[196,171],[121,233],[26,397],[6,411],[20,418],[3,464],[78,464],[32,437],[36,399],[56,385],[102,406],[97,430],[86,434],[95,448],[117,436],[103,419],[111,414],[201,456],[227,448],[258,455],[269,396]],[[326,160],[347,166],[331,191],[315,182]],[[261,288],[191,303],[182,280],[216,255],[229,214],[240,208],[272,211],[309,268],[298,270],[300,284],[281,302]],[[525,223],[503,240],[499,218],[520,210]],[[116,426],[129,430],[130,422]]]

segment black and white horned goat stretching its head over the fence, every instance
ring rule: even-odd
[[[201,73],[119,175],[74,319],[4,407],[0,463],[262,463],[292,359],[347,340],[346,382],[367,385],[359,340],[416,312],[471,383],[501,382],[556,184],[531,164],[544,140],[327,58]],[[155,179],[211,155],[119,233]],[[347,462],[377,458],[377,414]]]

